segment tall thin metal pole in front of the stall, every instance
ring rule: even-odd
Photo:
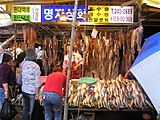
[[[76,27],[77,7],[78,7],[78,0],[75,0],[74,15],[73,15],[73,22],[72,22],[72,32],[71,32],[71,40],[70,40],[70,49],[69,49],[69,63],[68,63],[68,71],[67,71],[67,83],[66,83],[63,120],[68,119],[68,101],[67,101],[67,98],[68,98],[68,91],[69,91],[68,87],[69,87],[70,73],[71,73],[71,60],[72,60],[73,43],[74,43],[74,31],[75,31],[75,27]]]

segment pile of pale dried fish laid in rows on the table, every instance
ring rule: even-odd
[[[135,80],[116,79],[99,80],[74,86],[70,84],[68,103],[70,106],[106,108],[106,109],[144,109],[151,107],[141,87]]]

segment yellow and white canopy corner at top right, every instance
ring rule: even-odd
[[[143,0],[143,3],[152,7],[160,8],[160,0]]]

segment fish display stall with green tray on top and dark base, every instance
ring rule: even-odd
[[[124,79],[122,75],[111,80],[84,77],[71,81],[68,103],[72,119],[143,120],[144,114],[156,119],[153,105],[138,82]]]

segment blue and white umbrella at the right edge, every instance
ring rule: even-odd
[[[160,32],[145,40],[131,72],[160,114]]]

